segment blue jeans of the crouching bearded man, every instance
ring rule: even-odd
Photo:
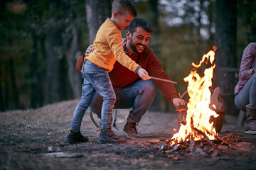
[[[124,88],[114,87],[114,92],[117,96],[117,101],[114,108],[132,108],[127,118],[128,123],[139,123],[142,115],[146,112],[152,103],[156,94],[156,86],[151,80],[138,80]],[[100,118],[103,98],[96,93],[92,100],[90,108],[93,113]]]

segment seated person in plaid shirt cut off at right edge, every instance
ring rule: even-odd
[[[256,134],[256,42],[251,42],[242,54],[239,81],[235,86],[235,106],[246,111],[245,133]]]

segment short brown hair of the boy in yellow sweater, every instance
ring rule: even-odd
[[[137,16],[137,8],[133,0],[114,0],[112,2],[112,13],[117,11],[120,15],[123,15],[125,10],[129,11],[132,16]]]

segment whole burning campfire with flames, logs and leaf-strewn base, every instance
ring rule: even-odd
[[[203,55],[199,64],[192,63],[195,69],[184,78],[188,82],[186,94],[189,100],[176,109],[178,132],[171,138],[159,137],[146,142],[158,149],[157,154],[178,160],[191,155],[218,157],[225,147],[235,149],[233,145],[240,140],[238,135],[231,133],[225,137],[218,136],[223,125],[225,108],[219,95],[220,89],[211,89],[215,50],[216,48]],[[199,67],[203,68],[203,76],[198,74]],[[145,142],[138,144],[145,145]],[[177,150],[179,152],[175,152]]]

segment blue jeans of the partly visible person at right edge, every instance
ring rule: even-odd
[[[242,111],[246,111],[246,106],[256,108],[256,73],[235,96],[235,106]]]

